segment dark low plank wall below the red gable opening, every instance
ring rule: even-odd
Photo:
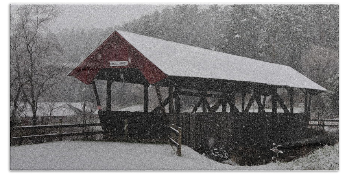
[[[131,140],[168,140],[167,114],[129,111],[99,111],[98,114],[105,140],[124,138],[124,135]]]

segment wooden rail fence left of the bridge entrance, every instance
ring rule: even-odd
[[[59,119],[59,123],[61,120]],[[19,123],[20,124],[20,123]],[[22,145],[23,139],[35,138],[35,137],[59,137],[59,140],[62,141],[62,137],[66,136],[79,136],[79,135],[94,135],[94,134],[103,134],[103,131],[91,131],[91,132],[79,132],[79,133],[62,133],[62,128],[73,128],[73,127],[90,127],[90,126],[101,126],[101,123],[89,123],[89,124],[60,124],[60,125],[36,125],[36,126],[14,126],[12,130],[19,130],[19,136],[12,137],[13,140],[17,141],[19,145]],[[28,135],[23,136],[24,130],[29,129],[46,129],[46,128],[59,128],[59,133],[54,134],[42,134],[42,135]]]

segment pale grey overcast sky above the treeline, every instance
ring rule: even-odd
[[[22,4],[11,4],[15,11]],[[152,13],[155,9],[175,6],[176,4],[58,4],[62,14],[51,24],[53,32],[72,28],[108,28],[122,25],[141,17],[142,14]],[[200,8],[209,4],[200,4]]]

